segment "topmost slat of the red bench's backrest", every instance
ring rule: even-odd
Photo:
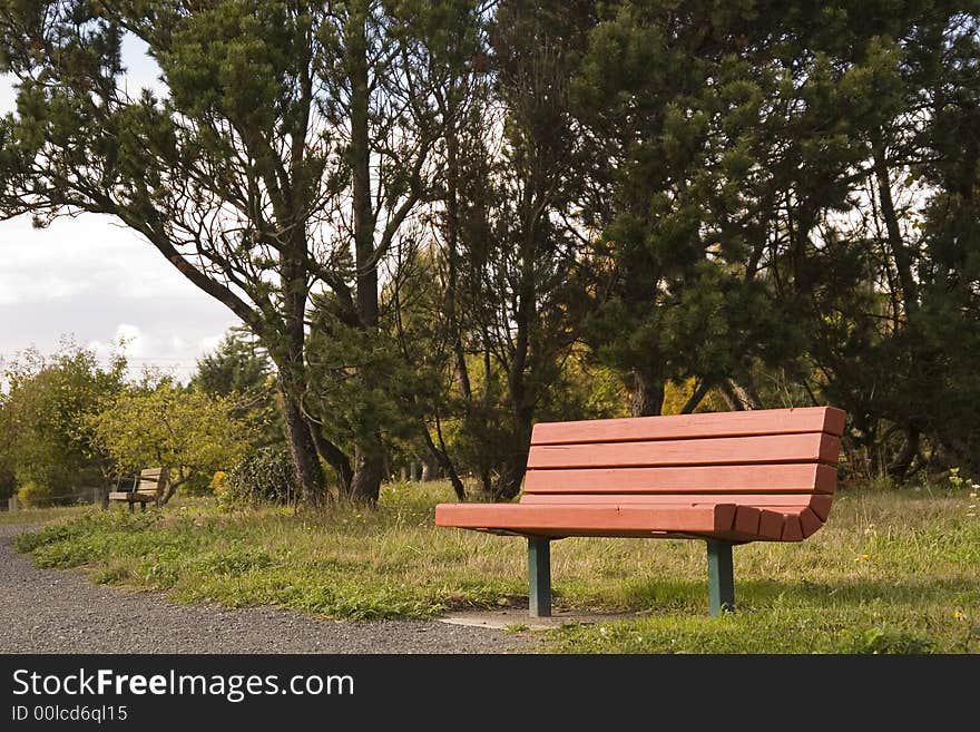
[[[840,409],[804,407],[576,422],[540,422],[535,426],[531,445],[672,440],[792,432],[829,432],[840,437],[843,431],[844,412]]]

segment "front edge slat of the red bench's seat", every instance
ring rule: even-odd
[[[533,533],[609,531],[727,531],[734,506],[650,508],[529,506],[521,504],[440,504],[437,526],[508,529]]]

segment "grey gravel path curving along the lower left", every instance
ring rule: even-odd
[[[437,621],[336,623],[284,609],[174,605],[37,569],[0,526],[0,653],[511,653],[528,634]]]

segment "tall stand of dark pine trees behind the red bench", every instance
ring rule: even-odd
[[[238,315],[312,504],[409,453],[510,498],[535,421],[667,409],[980,470],[978,58],[976,0],[0,0],[0,215]]]

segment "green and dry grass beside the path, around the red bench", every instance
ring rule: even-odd
[[[40,567],[81,567],[94,582],[184,603],[272,604],[337,619],[526,606],[525,543],[435,528],[439,500],[452,500],[448,486],[389,485],[373,511],[227,513],[207,499],[145,515],[68,509],[45,516],[55,520],[18,546]],[[567,624],[543,633],[541,650],[980,652],[971,502],[966,489],[842,490],[807,540],[735,548],[738,613],[721,618],[706,615],[700,541],[557,541],[556,606],[634,616]]]

